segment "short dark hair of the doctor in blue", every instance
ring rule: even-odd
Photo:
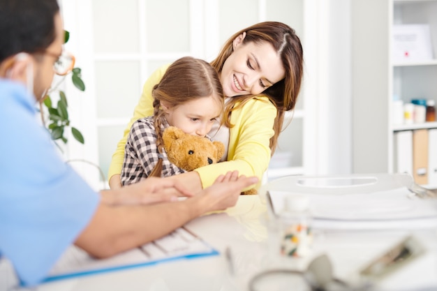
[[[57,0],[0,0],[0,63],[20,52],[44,51],[55,39]]]

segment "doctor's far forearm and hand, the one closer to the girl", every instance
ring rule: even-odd
[[[191,197],[193,193],[178,180],[149,177],[135,184],[102,191],[101,196],[103,203],[117,206],[177,201],[177,197]]]

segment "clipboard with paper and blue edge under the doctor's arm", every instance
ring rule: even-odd
[[[218,255],[218,252],[181,227],[161,239],[104,260],[91,258],[82,249],[71,246],[50,271],[45,282],[207,255]]]

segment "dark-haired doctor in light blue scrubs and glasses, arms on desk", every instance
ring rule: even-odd
[[[0,256],[22,285],[43,280],[71,244],[109,257],[235,205],[258,181],[230,172],[200,193],[171,177],[95,193],[36,119],[54,64],[65,61],[63,40],[56,0],[0,0]],[[191,197],[175,199],[182,195]]]

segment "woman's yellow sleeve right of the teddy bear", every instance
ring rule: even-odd
[[[262,175],[269,166],[272,152],[269,142],[274,135],[276,112],[276,107],[265,97],[252,99],[232,112],[231,124],[234,127],[230,128],[228,161],[195,170],[200,175],[203,188],[212,185],[220,174],[232,170],[258,177],[260,182],[255,188],[259,188]]]

